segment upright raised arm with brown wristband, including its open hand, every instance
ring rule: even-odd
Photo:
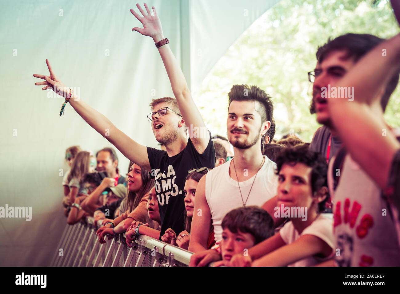
[[[164,39],[164,34],[162,32],[162,26],[160,22],[160,18],[157,16],[156,8],[152,7],[152,12],[148,8],[147,4],[144,4],[146,11],[139,4],[136,5],[141,12],[142,16],[136,13],[133,9],[130,11],[132,14],[142,23],[143,28],[133,28],[133,31],[137,31],[144,36],[150,36],[153,38],[155,43],[160,42]],[[178,102],[179,110],[182,114],[182,117],[185,121],[186,127],[190,128],[189,134],[195,136],[191,136],[194,147],[196,150],[202,154],[210,141],[210,136],[208,131],[206,130],[206,124],[198,110],[194,100],[192,98],[192,94],[188,88],[186,83],[186,79],[182,73],[182,70],[179,67],[178,61],[176,60],[174,54],[171,51],[171,48],[168,44],[161,46],[158,48],[158,52],[162,58],[162,62],[164,62],[165,69],[167,71],[168,77],[171,82],[172,91],[174,92],[174,96],[176,101]],[[198,137],[198,132],[195,132],[198,127],[200,130],[200,136]],[[202,136],[201,134],[207,134],[206,136]]]

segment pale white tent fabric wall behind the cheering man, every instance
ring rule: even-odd
[[[246,28],[277,2],[154,0],[165,36],[192,91]],[[151,38],[131,29],[140,23],[126,0],[37,0],[0,10],[0,207],[32,207],[32,220],[0,218],[0,265],[46,266],[58,250],[65,149],[94,153],[111,144],[61,97],[50,96],[32,75],[48,74],[76,87],[86,103],[130,137],[157,142],[146,115],[152,98],[172,96],[168,76]],[[137,8],[136,8],[137,11]],[[128,159],[119,151],[126,175]]]

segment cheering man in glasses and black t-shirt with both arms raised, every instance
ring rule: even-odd
[[[184,230],[184,179],[188,170],[194,167],[213,168],[215,151],[210,132],[194,103],[178,61],[168,45],[169,41],[163,36],[156,10],[153,7],[152,16],[146,4],[145,8],[147,13],[138,4],[143,17],[131,10],[144,27],[133,30],[153,38],[176,98],[153,99],[150,103],[152,113],[148,115],[148,119],[151,121],[156,140],[165,146],[166,151],[141,145],[116,128],[109,119],[84,103],[76,93],[66,87],[54,74],[48,60],[46,63],[50,76],[34,74],[34,77],[45,79],[36,85],[44,86],[42,89],[51,88],[59,95],[67,97],[67,101],[91,127],[110,141],[126,158],[152,173],[159,203],[161,232],[164,233],[167,228],[181,232]],[[109,130],[107,135],[106,129]],[[186,129],[190,131],[187,132]],[[200,130],[200,133],[197,130]],[[201,135],[204,133],[206,136]]]

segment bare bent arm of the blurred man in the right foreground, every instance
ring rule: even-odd
[[[386,187],[391,163],[400,144],[383,117],[377,117],[370,105],[376,107],[379,102],[376,100],[399,70],[400,35],[397,35],[368,52],[335,85],[354,87],[354,101],[329,99],[334,129],[352,158],[381,188]]]

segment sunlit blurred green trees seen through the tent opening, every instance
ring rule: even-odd
[[[202,83],[196,99],[206,123],[226,134],[230,87],[236,83],[258,85],[272,96],[276,139],[290,130],[310,142],[320,126],[309,112],[312,84],[307,72],[314,69],[318,46],[346,33],[389,38],[398,24],[387,0],[296,1],[283,0],[264,13],[218,61]],[[396,89],[385,118],[399,126],[400,90]]]

